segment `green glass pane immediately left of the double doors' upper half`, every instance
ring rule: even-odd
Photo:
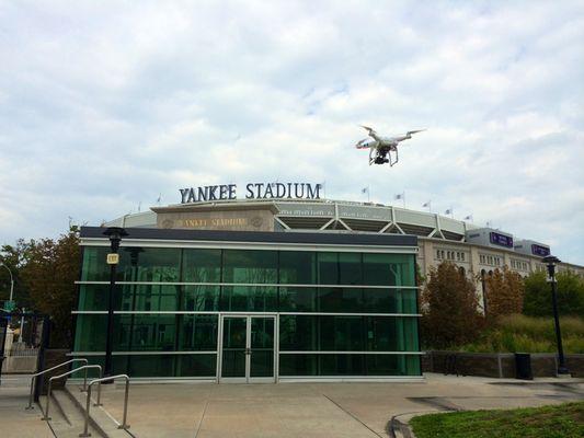
[[[181,351],[217,350],[218,315],[185,314],[179,319]]]

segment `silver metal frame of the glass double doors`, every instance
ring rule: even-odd
[[[241,318],[245,319],[245,348],[249,353],[245,354],[245,376],[244,377],[221,377],[221,370],[224,365],[224,327],[226,318]],[[273,377],[251,377],[251,320],[252,318],[271,318],[274,320],[274,376]],[[278,318],[276,313],[220,313],[219,314],[219,330],[217,331],[217,382],[218,383],[275,383],[277,382],[278,370],[278,351],[279,345],[279,327]]]

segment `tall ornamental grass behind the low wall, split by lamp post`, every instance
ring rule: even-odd
[[[565,353],[584,353],[584,319],[560,318]],[[553,319],[508,315],[486,330],[481,338],[458,349],[473,353],[554,353]]]

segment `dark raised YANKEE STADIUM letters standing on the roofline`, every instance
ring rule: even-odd
[[[237,184],[180,188],[181,204],[237,199]],[[320,199],[322,184],[249,183],[245,199]]]

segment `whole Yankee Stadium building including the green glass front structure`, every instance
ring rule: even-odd
[[[72,356],[103,362],[110,242],[122,227],[115,372],[218,382],[421,377],[416,264],[450,261],[479,284],[543,269],[550,247],[435,214],[262,196],[183,203],[83,227]],[[294,191],[294,186],[286,187]],[[296,188],[298,191],[298,188]],[[260,188],[257,188],[260,193]],[[308,193],[308,191],[305,192]],[[297,197],[302,197],[302,195]],[[584,275],[584,268],[561,269]]]

